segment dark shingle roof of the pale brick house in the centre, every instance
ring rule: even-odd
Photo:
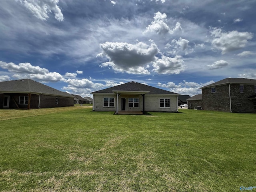
[[[144,84],[137,83],[134,81],[128,82],[125,84],[121,84],[118,86],[102,89],[99,91],[95,91],[95,92],[92,92],[92,94],[94,94],[94,93],[113,93],[113,91],[134,91],[134,92],[136,92],[136,91],[143,92],[144,91],[144,92],[148,92],[147,94],[177,94],[174,92],[170,92],[170,91],[155,88],[152,86],[144,85]]]

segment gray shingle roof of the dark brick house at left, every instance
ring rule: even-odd
[[[74,96],[66,92],[59,91],[31,79],[2,81],[0,82],[0,93],[32,93],[74,98]]]

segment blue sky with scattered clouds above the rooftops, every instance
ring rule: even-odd
[[[136,81],[179,94],[256,79],[254,0],[1,0],[0,81],[70,94]]]

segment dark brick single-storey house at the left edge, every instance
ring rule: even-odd
[[[0,108],[74,106],[74,96],[31,79],[0,82]]]

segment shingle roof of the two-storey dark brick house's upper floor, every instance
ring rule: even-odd
[[[201,89],[212,87],[212,86],[230,84],[230,83],[232,83],[232,84],[256,84],[256,80],[255,79],[246,79],[246,78],[226,78],[226,79],[217,81],[215,83],[206,85],[204,87],[201,87]]]

